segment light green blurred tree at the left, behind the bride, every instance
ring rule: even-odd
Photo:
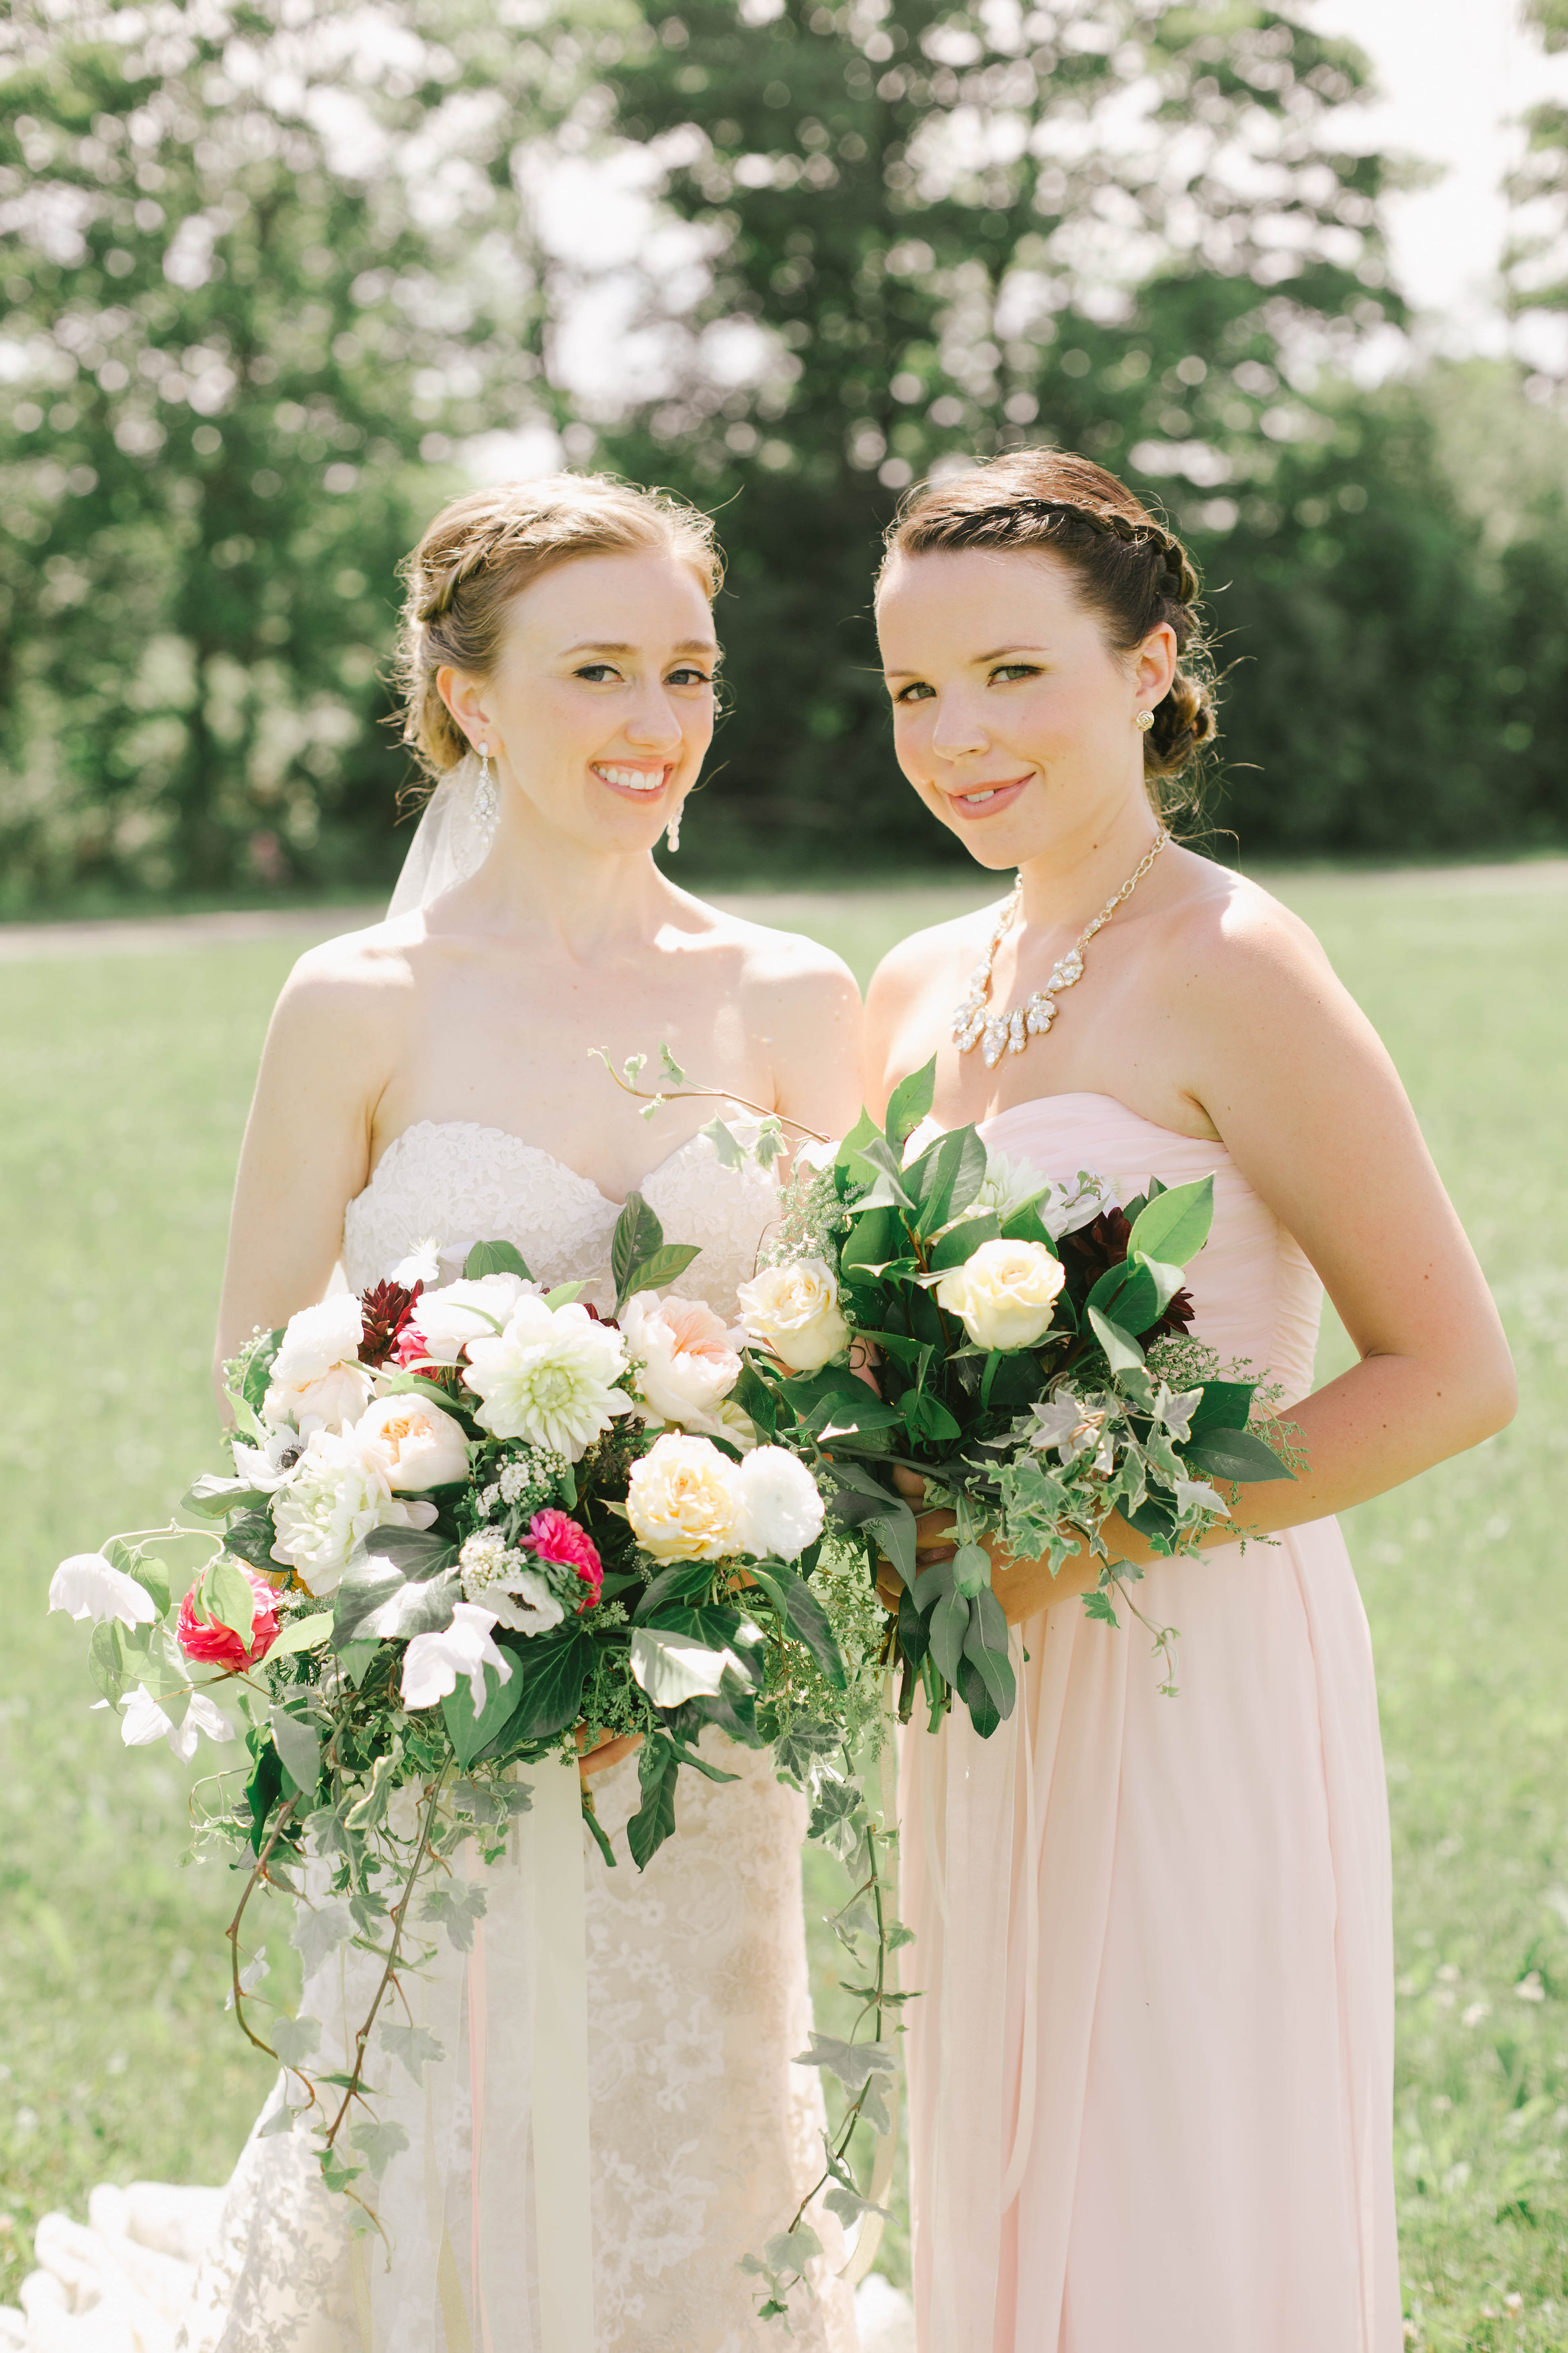
[[[2,904],[388,864],[395,562],[454,440],[538,407],[510,158],[595,9],[534,14],[24,0],[0,33]]]

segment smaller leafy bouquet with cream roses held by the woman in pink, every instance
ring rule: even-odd
[[[741,1292],[755,1346],[736,1398],[811,1464],[872,1572],[877,1551],[893,1562],[903,1720],[924,1687],[933,1729],[957,1694],[987,1737],[1016,1689],[985,1537],[1053,1572],[1086,1546],[1086,1607],[1114,1626],[1138,1577],[1105,1544],[1114,1511],[1182,1553],[1227,1518],[1222,1487],[1293,1473],[1279,1426],[1253,1426],[1258,1381],[1190,1337],[1213,1179],[1114,1202],[1086,1172],[1013,1167],[973,1127],[905,1158],[933,1071],[884,1127],[863,1113],[827,1165],[797,1165],[771,1266]],[[893,1466],[954,1511],[952,1560],[917,1572]]]

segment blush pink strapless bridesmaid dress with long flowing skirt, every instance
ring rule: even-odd
[[[1288,1400],[1321,1287],[1218,1144],[1103,1094],[983,1127],[1051,1176],[1215,1174],[1197,1332]],[[990,1739],[900,1744],[922,2353],[1396,2353],[1389,1831],[1333,1520],[1159,1562],[1150,1638],[1016,1631]],[[1023,1652],[1027,1649],[1027,1664]]]

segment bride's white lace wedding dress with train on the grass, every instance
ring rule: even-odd
[[[733,1315],[773,1198],[703,1136],[644,1181],[670,1240],[701,1257],[677,1289]],[[421,1122],[383,1155],[343,1224],[343,1273],[362,1289],[421,1240],[463,1254],[510,1240],[538,1278],[585,1282],[611,1304],[616,1205],[545,1151],[465,1122]],[[682,1774],[679,1831],[646,1873],[625,1849],[637,1765],[595,1781],[609,1871],[585,1838],[595,2348],[741,2353],[773,2344],[738,2259],[783,2228],[818,2172],[820,2089],[792,2066],[809,2040],[799,1847],[804,1800],[766,1758],[712,1732],[733,1784]],[[512,1831],[512,1849],[529,1817]],[[26,2353],[538,2353],[531,2245],[527,1873],[508,1852],[487,1887],[477,1958],[442,1946],[409,1979],[414,2017],[447,2059],[402,2068],[378,2113],[409,2151],[378,2214],[390,2249],[350,2240],[350,2207],[320,2186],[303,2132],[266,2132],[282,2080],[226,2191],[139,2184],[94,2191],[89,2226],[49,2217],[24,2315],[0,2348]],[[348,1958],[346,1958],[348,1955]],[[322,2052],[364,2014],[367,1955],[341,1946],[306,1984]],[[480,2160],[475,2162],[475,2141]],[[832,2221],[818,2224],[830,2242]],[[832,2233],[837,2247],[837,2233]],[[842,2257],[839,2257],[842,2261]],[[795,2322],[811,2353],[853,2353],[849,2289],[827,2280]]]

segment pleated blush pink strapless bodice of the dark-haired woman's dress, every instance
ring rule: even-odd
[[[1187,1268],[1194,1332],[1222,1358],[1248,1358],[1295,1405],[1312,1388],[1324,1285],[1300,1242],[1258,1198],[1222,1144],[1182,1136],[1112,1094],[1041,1094],[1011,1104],[980,1134],[1009,1160],[1046,1176],[1093,1169],[1119,1200],[1213,1174],[1213,1231]]]

